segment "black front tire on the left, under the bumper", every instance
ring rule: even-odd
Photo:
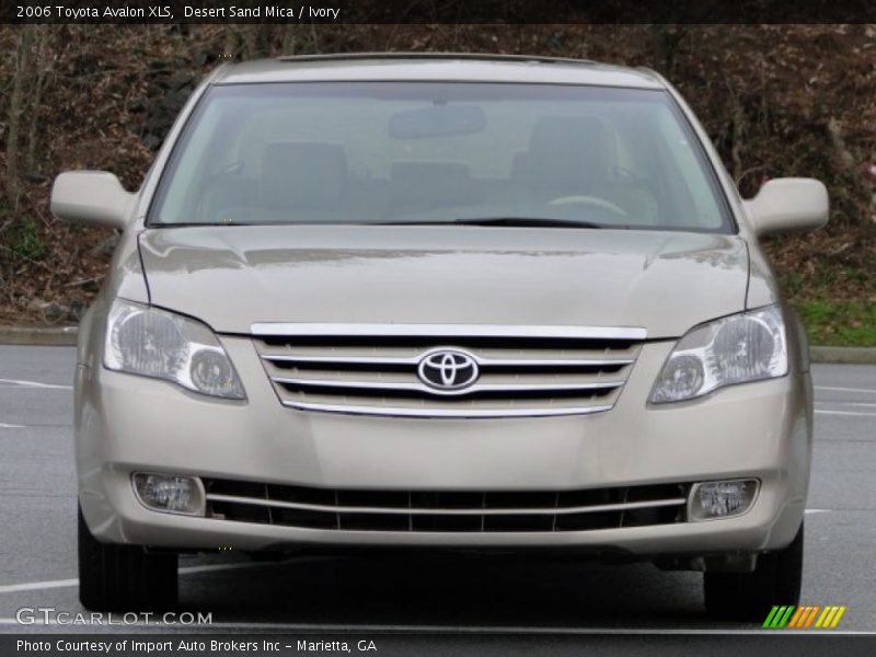
[[[93,611],[145,611],[176,604],[175,554],[101,543],[79,509],[79,600]]]

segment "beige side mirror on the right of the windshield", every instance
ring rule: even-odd
[[[828,191],[812,178],[769,181],[745,203],[758,235],[815,230],[825,226],[830,215]]]

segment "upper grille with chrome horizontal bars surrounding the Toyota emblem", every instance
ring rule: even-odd
[[[577,326],[255,324],[256,350],[293,408],[408,417],[537,417],[613,407],[645,331]],[[427,385],[422,360],[461,351],[480,377]]]

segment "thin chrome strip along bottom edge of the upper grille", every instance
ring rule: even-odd
[[[564,415],[589,415],[611,411],[612,404],[600,406],[567,406],[545,408],[415,408],[392,406],[355,406],[348,404],[322,404],[318,402],[292,402],[281,400],[284,406],[299,411],[320,411],[323,413],[344,413],[347,415],[380,415],[391,417],[456,417],[456,418],[503,418],[503,417],[560,417]]]

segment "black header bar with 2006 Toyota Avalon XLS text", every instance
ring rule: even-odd
[[[0,23],[876,23],[873,0],[3,0]]]

